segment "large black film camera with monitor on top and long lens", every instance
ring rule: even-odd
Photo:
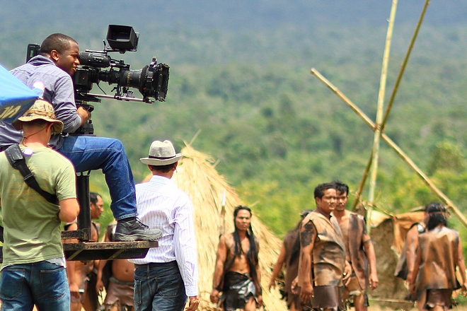
[[[110,57],[110,52],[136,52],[139,40],[139,33],[135,33],[131,26],[109,25],[107,32],[107,42],[103,51],[92,51],[86,49],[79,53],[80,65],[76,69],[73,78],[74,98],[76,106],[83,106],[91,112],[93,105],[88,102],[100,102],[100,98],[111,98],[116,100],[128,100],[152,103],[154,100],[165,101],[168,88],[168,69],[167,64],[157,63],[155,58],[151,64],[143,69],[130,70],[129,64],[122,60],[116,60]],[[39,45],[28,45],[26,61],[38,55]],[[115,84],[113,95],[106,95],[100,88],[99,82],[108,82],[109,85]],[[98,88],[104,94],[89,93],[96,83]],[[135,98],[130,88],[137,88],[143,98]],[[83,127],[79,128],[73,134],[93,134],[93,124],[91,120]]]

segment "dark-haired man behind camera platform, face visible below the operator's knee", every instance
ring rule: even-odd
[[[100,214],[104,211],[104,203],[102,197],[95,192],[89,193],[90,199],[90,212],[91,219],[98,219]],[[76,222],[66,226],[66,230],[76,230],[78,224]],[[92,223],[91,225],[91,241],[98,242],[99,232],[98,225]],[[69,241],[73,242],[73,240]],[[81,307],[86,311],[96,310],[97,297],[94,297],[91,293],[95,293],[94,285],[86,291],[88,287],[89,275],[93,271],[94,266],[97,263],[94,261],[90,262],[67,262],[67,276],[71,293],[71,311],[80,311]]]

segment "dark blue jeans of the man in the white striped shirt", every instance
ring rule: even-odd
[[[135,265],[135,311],[183,311],[185,285],[177,262]]]

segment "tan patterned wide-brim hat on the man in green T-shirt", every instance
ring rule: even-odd
[[[42,119],[53,123],[52,131],[54,133],[62,133],[63,122],[55,117],[54,107],[46,100],[36,100],[34,104],[18,119],[11,123],[15,129],[21,129],[21,122],[30,122],[37,119]]]

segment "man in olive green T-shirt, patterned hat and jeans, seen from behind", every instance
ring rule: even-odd
[[[78,216],[75,172],[71,162],[47,146],[63,124],[55,119],[52,105],[36,100],[13,122],[21,129],[25,163],[40,188],[57,196],[47,201],[23,180],[0,153],[0,204],[4,221],[0,299],[2,310],[69,310],[70,296],[61,241],[61,221]]]

